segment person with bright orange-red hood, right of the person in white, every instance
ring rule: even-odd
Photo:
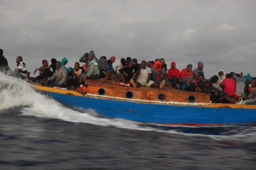
[[[155,62],[155,64],[151,68],[151,72],[151,80],[153,80],[153,82],[160,85],[162,83],[162,80],[164,80],[166,85],[166,80],[164,79],[164,70],[162,69],[162,63],[160,61]]]

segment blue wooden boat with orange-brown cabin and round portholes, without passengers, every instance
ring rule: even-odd
[[[87,82],[87,94],[33,86],[57,101],[110,118],[187,125],[256,122],[256,105],[211,103],[209,94],[200,92],[121,87],[99,80]]]

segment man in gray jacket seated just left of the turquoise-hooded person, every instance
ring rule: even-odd
[[[42,83],[46,83],[51,87],[65,87],[65,83],[67,83],[68,72],[65,68],[61,67],[61,62],[56,62],[56,70],[52,77],[47,78],[46,80],[42,80]]]

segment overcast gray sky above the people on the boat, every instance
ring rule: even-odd
[[[256,76],[255,0],[0,0],[0,48],[12,69],[21,55],[33,72],[41,60],[97,57],[204,62],[209,78],[226,72]]]

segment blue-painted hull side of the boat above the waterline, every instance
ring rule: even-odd
[[[256,109],[175,106],[97,99],[43,91],[54,99],[80,108],[91,108],[111,118],[161,124],[224,124],[256,122]]]

